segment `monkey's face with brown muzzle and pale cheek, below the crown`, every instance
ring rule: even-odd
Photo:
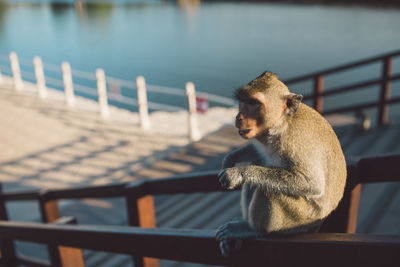
[[[258,92],[250,97],[239,99],[236,127],[243,138],[250,139],[262,135],[282,114],[282,107],[277,110],[272,105],[267,105],[267,98],[266,94]]]

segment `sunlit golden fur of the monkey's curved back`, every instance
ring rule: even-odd
[[[347,176],[343,150],[329,122],[309,106],[300,104],[292,121],[289,138],[296,140],[293,150],[300,158],[311,158],[312,166],[305,166],[324,176],[322,196],[310,200],[320,206],[319,216],[326,217],[343,196]]]

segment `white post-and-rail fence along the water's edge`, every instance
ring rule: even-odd
[[[23,67],[22,69],[21,66]],[[45,76],[45,72],[53,75]],[[0,54],[0,82],[2,74],[12,76],[14,88],[17,91],[23,90],[22,77],[35,82],[38,96],[42,99],[47,96],[47,86],[64,90],[65,103],[70,107],[75,105],[75,92],[86,97],[97,98],[99,113],[102,118],[109,116],[109,102],[117,106],[122,105],[128,109],[138,107],[140,126],[144,130],[150,128],[149,109],[175,112],[185,110],[183,107],[186,104],[188,108],[189,135],[192,141],[197,141],[201,138],[197,123],[196,95],[206,98],[207,101],[214,102],[217,105],[235,105],[235,102],[230,98],[208,93],[196,93],[195,86],[191,82],[186,84],[186,90],[146,84],[143,76],[138,76],[136,82],[132,82],[114,77],[106,77],[104,70],[100,68],[96,70],[96,73],[90,73],[71,69],[68,62],[63,62],[61,66],[56,66],[42,63],[40,57],[35,57],[33,62],[18,59],[18,55],[15,52],[11,52],[9,56]],[[55,78],[54,76],[58,76],[59,78]],[[78,82],[73,82],[73,80],[77,80]],[[125,89],[125,95],[121,90],[122,88]],[[134,95],[135,90],[136,98]],[[147,100],[148,93],[156,95],[165,94],[174,96],[173,98],[180,96],[186,103],[171,105],[151,102]]]

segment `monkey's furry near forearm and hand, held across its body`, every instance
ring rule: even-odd
[[[321,195],[324,190],[324,177],[305,174],[300,170],[286,170],[278,167],[247,166],[228,168],[219,175],[221,185],[234,189],[243,183],[259,186],[265,192],[289,196]]]

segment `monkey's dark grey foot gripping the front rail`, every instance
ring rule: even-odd
[[[244,239],[258,236],[261,236],[261,234],[254,230],[248,221],[242,218],[237,218],[221,225],[215,234],[221,254],[225,258],[233,250],[240,249]]]

